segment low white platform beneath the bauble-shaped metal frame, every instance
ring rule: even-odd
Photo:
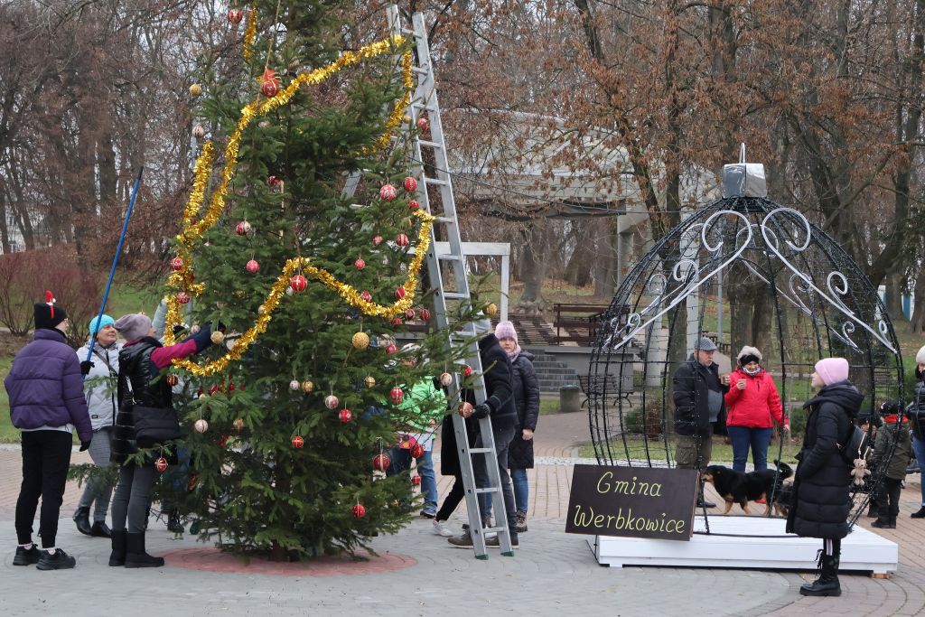
[[[695,533],[689,542],[637,537],[597,536],[588,539],[598,563],[663,565],[682,568],[752,568],[758,570],[815,570],[822,540],[784,533],[785,521],[763,516],[710,516],[710,535]],[[706,531],[702,516],[694,519],[697,532]],[[895,572],[899,546],[856,524],[842,540],[839,569],[872,574]]]

